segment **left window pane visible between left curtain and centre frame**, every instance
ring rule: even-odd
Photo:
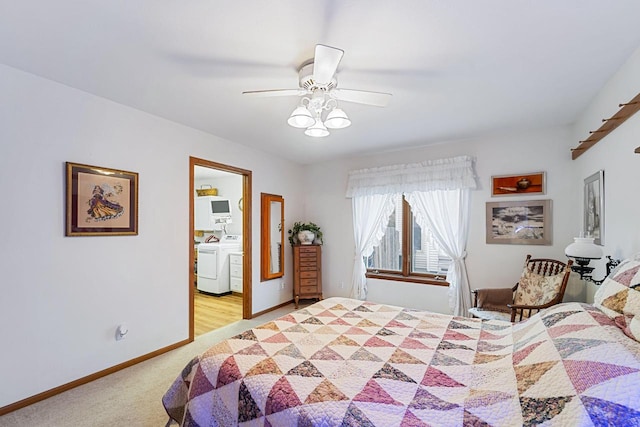
[[[402,271],[402,196],[398,196],[395,209],[373,254],[365,260],[367,269]]]

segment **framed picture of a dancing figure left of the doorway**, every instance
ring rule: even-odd
[[[138,174],[66,163],[66,235],[137,235]]]

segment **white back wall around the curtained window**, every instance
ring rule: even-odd
[[[308,219],[326,229],[323,259],[325,296],[348,296],[352,282],[354,245],[351,202],[345,198],[349,170],[414,163],[427,159],[470,155],[476,158],[478,189],[471,196],[467,268],[472,288],[513,286],[527,254],[564,259],[564,248],[578,231],[572,216],[576,195],[567,180],[571,168],[568,128],[513,132],[362,156],[317,164],[307,169]],[[491,176],[545,171],[543,196],[491,197]],[[553,244],[550,246],[485,243],[485,204],[488,201],[551,199]],[[312,213],[312,215],[309,215]],[[342,237],[349,236],[349,237]],[[340,284],[344,283],[344,288]],[[450,313],[448,288],[388,280],[368,280],[368,299],[389,304]]]

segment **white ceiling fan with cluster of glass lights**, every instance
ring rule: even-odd
[[[305,61],[298,71],[298,89],[272,89],[242,92],[250,96],[301,96],[300,105],[291,113],[287,123],[296,128],[306,128],[305,134],[322,137],[330,129],[349,126],[351,120],[338,108],[339,101],[385,107],[391,99],[390,93],[370,92],[355,89],[338,89],[336,70],[344,55],[342,49],[316,45],[313,59]],[[326,118],[322,113],[329,111]]]

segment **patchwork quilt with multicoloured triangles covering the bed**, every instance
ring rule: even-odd
[[[640,426],[640,344],[593,306],[518,324],[329,298],[194,358],[182,426]]]

